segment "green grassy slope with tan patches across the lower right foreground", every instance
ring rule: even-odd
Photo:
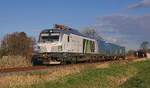
[[[85,68],[51,82],[18,88],[150,88],[150,61],[109,68]]]

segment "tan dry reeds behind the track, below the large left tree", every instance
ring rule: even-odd
[[[21,56],[8,56],[0,59],[0,69],[31,66],[29,61]]]

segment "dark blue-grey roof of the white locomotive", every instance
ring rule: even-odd
[[[79,35],[82,37],[86,37],[86,38],[90,38],[90,39],[94,39],[94,37],[91,36],[87,36],[85,34],[80,33],[79,31],[75,30],[75,29],[71,29],[71,30],[61,30],[61,29],[57,29],[57,28],[53,28],[53,29],[45,29],[43,30],[41,33],[50,33],[50,31],[52,32],[63,32],[65,34],[75,34],[75,35]]]

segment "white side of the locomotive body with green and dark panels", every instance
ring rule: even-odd
[[[62,52],[72,53],[98,53],[97,42],[94,39],[75,34],[63,34]]]

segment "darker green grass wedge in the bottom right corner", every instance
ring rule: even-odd
[[[124,83],[122,88],[150,88],[150,63],[137,67],[140,70],[139,73]]]

